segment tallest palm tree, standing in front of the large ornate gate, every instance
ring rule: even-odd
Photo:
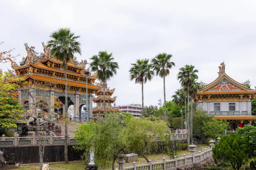
[[[47,47],[51,47],[51,55],[63,62],[62,66],[65,70],[65,163],[68,163],[67,158],[67,63],[73,59],[74,53],[81,55],[80,42],[77,39],[80,36],[75,36],[70,28],[59,28],[53,31],[50,35]]]

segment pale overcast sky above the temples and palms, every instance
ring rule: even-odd
[[[16,48],[18,63],[26,56],[24,42],[42,52],[41,42],[60,27],[81,36],[79,61],[113,52],[120,69],[108,86],[116,88],[116,105],[141,103],[141,85],[129,80],[128,70],[136,59],[162,52],[176,64],[166,77],[167,101],[180,88],[177,73],[186,64],[198,69],[198,81],[210,83],[225,61],[227,75],[256,86],[255,0],[0,0],[0,6],[0,51]],[[154,77],[144,86],[144,104],[158,99],[163,101],[163,79]]]

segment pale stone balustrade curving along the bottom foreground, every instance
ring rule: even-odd
[[[208,150],[202,150],[198,153],[195,153],[195,151],[191,152],[191,154],[187,154],[185,156],[182,156],[181,158],[176,158],[172,160],[166,160],[163,158],[163,161],[160,162],[154,162],[152,163],[151,160],[149,160],[148,164],[140,164],[136,165],[135,162],[133,162],[133,165],[130,167],[124,167],[125,161],[123,160],[122,156],[119,156],[119,170],[176,170],[180,167],[185,167],[189,164],[193,163],[199,163],[201,161],[204,161],[207,157],[212,156],[212,149],[208,148]],[[118,170],[116,168],[116,170]]]

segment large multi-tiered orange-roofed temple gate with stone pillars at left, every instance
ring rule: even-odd
[[[65,107],[73,106],[73,120],[81,119],[82,108],[88,103],[89,118],[93,117],[93,94],[99,89],[94,85],[97,79],[96,75],[91,75],[89,69],[85,69],[86,60],[78,62],[76,57],[67,63],[67,85],[68,85],[68,105],[65,106],[65,79],[62,62],[50,55],[50,48],[42,42],[44,53],[35,51],[35,47],[29,47],[25,43],[27,56],[23,57],[20,65],[12,62],[12,69],[15,70],[18,78],[28,82],[26,88],[20,88],[19,98],[22,99],[22,105],[31,105],[34,96],[38,102],[47,103],[49,108],[45,110],[47,113],[63,113]],[[88,94],[86,94],[86,89]],[[88,101],[86,102],[86,95]],[[53,105],[58,104],[54,108]]]

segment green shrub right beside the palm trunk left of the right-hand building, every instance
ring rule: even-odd
[[[209,117],[202,108],[193,112],[193,135],[195,137],[204,138],[204,122],[209,122],[212,117]]]

